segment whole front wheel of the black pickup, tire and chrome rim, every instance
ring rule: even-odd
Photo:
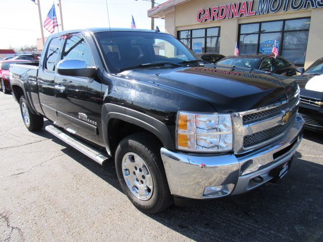
[[[116,151],[116,170],[120,185],[134,204],[147,213],[158,213],[173,203],[160,147],[144,133],[123,139]]]

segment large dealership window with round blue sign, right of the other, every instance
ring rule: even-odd
[[[239,25],[241,54],[272,53],[276,40],[279,54],[304,66],[310,18]]]

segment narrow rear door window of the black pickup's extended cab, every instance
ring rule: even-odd
[[[58,57],[60,53],[60,49],[62,46],[63,39],[62,38],[53,38],[47,49],[46,59],[45,59],[45,70],[46,72],[55,72],[55,67],[58,62]]]

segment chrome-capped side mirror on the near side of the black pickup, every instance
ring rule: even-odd
[[[87,67],[82,59],[62,59],[57,64],[57,73],[63,76],[93,78],[96,67]]]

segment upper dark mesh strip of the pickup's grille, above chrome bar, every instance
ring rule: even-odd
[[[247,115],[244,115],[243,118],[243,124],[250,124],[254,122],[259,122],[261,120],[265,120],[267,118],[274,117],[282,112],[282,110],[290,109],[295,106],[295,103],[297,102],[297,98],[294,98],[294,100],[291,100],[290,102],[287,102],[285,104],[282,104],[280,106],[267,109],[260,112],[250,113]]]

